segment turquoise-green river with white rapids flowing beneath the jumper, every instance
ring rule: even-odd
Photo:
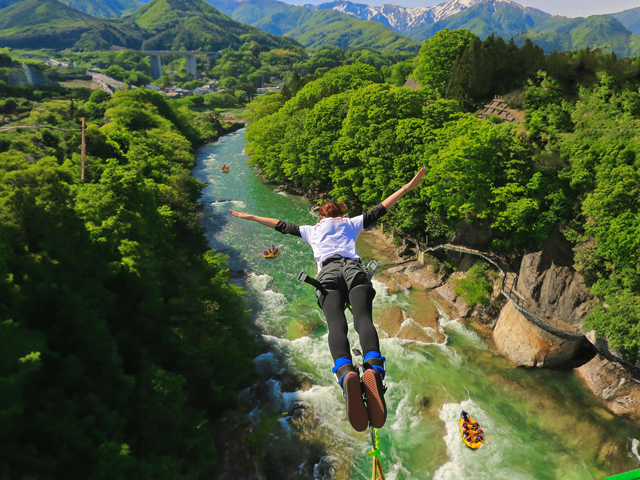
[[[232,271],[244,272],[234,281],[248,292],[265,344],[255,364],[267,378],[268,408],[254,394],[257,387],[241,400],[256,424],[279,418],[267,436],[267,476],[371,478],[370,443],[346,420],[314,291],[296,281],[301,270],[316,275],[311,249],[297,237],[229,213],[233,208],[297,224],[318,220],[310,202],[278,191],[247,165],[244,133],[200,148],[193,173],[208,183],[202,225],[209,244],[229,256]],[[223,164],[229,173],[220,171]],[[271,243],[280,248],[279,257],[257,256]],[[384,265],[371,235],[361,235],[358,248]],[[432,315],[445,338],[412,342],[380,331],[389,387],[380,447],[388,479],[586,480],[640,467],[640,429],[600,407],[572,372],[517,367],[491,350],[481,329],[447,316],[428,292],[390,293],[375,277],[374,286],[376,322],[393,311],[402,312],[403,326],[412,316]],[[352,324],[349,338],[359,347]],[[283,380],[287,376],[298,379],[293,387]],[[462,409],[484,427],[488,446],[472,451],[461,442]]]

